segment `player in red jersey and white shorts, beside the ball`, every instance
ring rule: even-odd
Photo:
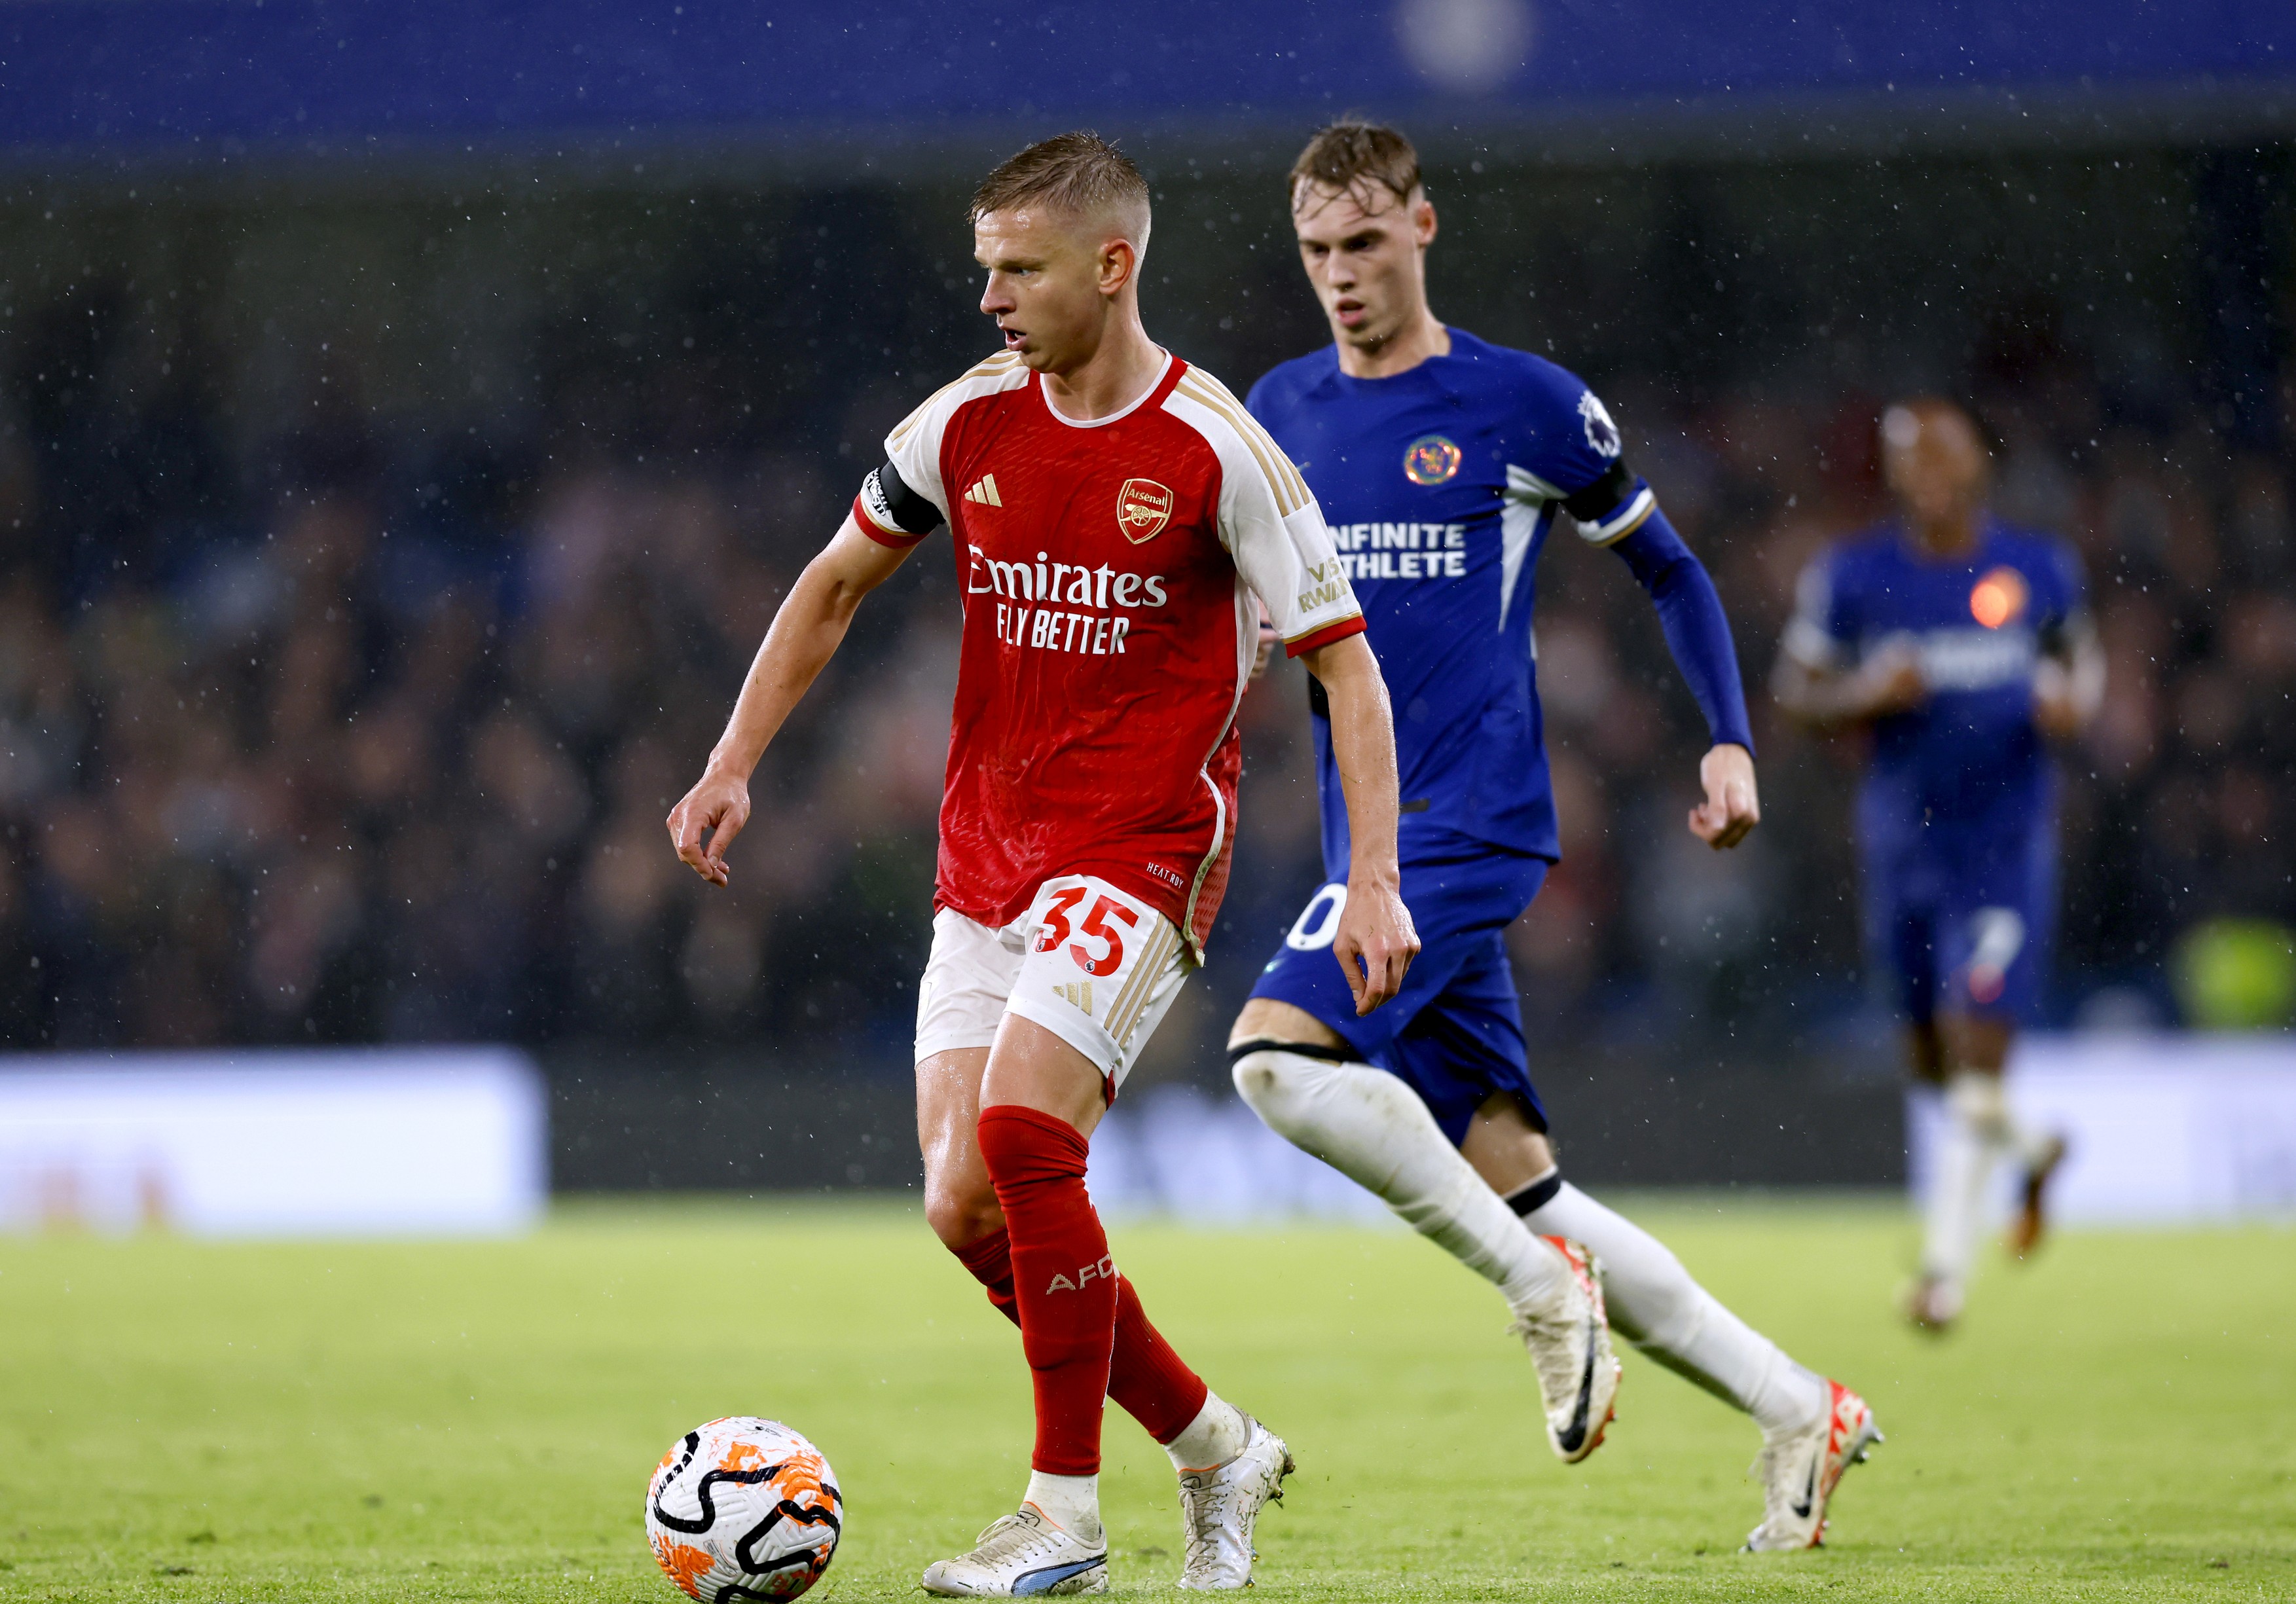
[[[1355,831],[1332,945],[1364,1012],[1419,948],[1396,890],[1394,723],[1297,468],[1141,328],[1139,170],[1086,133],[1033,145],[974,195],[974,241],[1003,351],[886,438],[668,826],[723,886],[774,732],[861,599],[946,523],[964,636],[916,1010],[925,1216],[1019,1324],[1038,1432],[1019,1512],[932,1565],[925,1590],[1107,1586],[1102,1397],[1180,1473],[1180,1583],[1240,1588],[1290,1455],[1148,1324],[1086,1196],[1086,1143],[1203,961],[1258,606],[1332,704]]]

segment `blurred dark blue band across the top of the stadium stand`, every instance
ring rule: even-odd
[[[2291,62],[2278,0],[0,0],[0,158],[716,145],[914,163],[1052,124],[1217,138],[1348,108],[1564,149],[1775,154],[2101,110],[2275,129]]]

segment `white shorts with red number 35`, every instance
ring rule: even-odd
[[[1114,1099],[1194,968],[1169,918],[1093,874],[1045,881],[1003,929],[941,909],[916,987],[916,1060],[990,1046],[1015,1012],[1093,1060]]]

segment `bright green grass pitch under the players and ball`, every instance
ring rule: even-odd
[[[1148,1308],[1300,1475],[1258,1597],[2296,1595],[2287,1232],[2066,1235],[1903,1331],[1901,1209],[1639,1200],[1890,1434],[1828,1549],[1743,1556],[1754,1430],[1626,1356],[1584,1466],[1490,1290],[1394,1230],[1127,1225]],[[1192,1278],[1217,1292],[1192,1292]],[[0,1244],[0,1597],[670,1604],[638,1528],[684,1430],[765,1414],[850,1501],[815,1599],[909,1595],[1013,1508],[1017,1338],[902,1207],[579,1205],[523,1241]],[[1169,1590],[1162,1453],[1109,1416],[1118,1593]]]

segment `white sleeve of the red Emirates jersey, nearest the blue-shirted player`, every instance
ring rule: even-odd
[[[1219,457],[1219,544],[1267,608],[1286,649],[1297,656],[1322,645],[1318,636],[1329,636],[1334,624],[1359,620],[1364,610],[1322,507],[1242,402],[1201,367],[1189,367],[1164,411],[1194,427]]]

